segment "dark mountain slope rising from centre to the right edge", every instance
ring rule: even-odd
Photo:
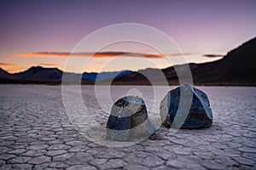
[[[231,50],[223,59],[203,64],[189,64],[193,81],[197,85],[256,85],[256,37],[243,43],[240,47]],[[175,69],[179,71],[185,70],[186,65],[176,65],[163,69],[166,80],[170,85],[177,85],[178,77]],[[150,72],[149,72],[150,71]],[[150,84],[148,79],[144,77],[156,74],[155,69],[146,69],[143,71],[126,74],[118,77],[113,84]],[[147,75],[146,74],[146,75]],[[154,78],[154,82],[160,80]],[[161,84],[161,82],[160,82]]]

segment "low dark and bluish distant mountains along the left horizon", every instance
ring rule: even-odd
[[[113,77],[120,77],[132,71],[113,71],[102,73],[87,73],[83,75],[66,72],[67,82],[78,82],[82,78],[83,84],[104,81]],[[44,68],[42,66],[32,66],[27,71],[9,74],[7,71],[0,70],[0,82],[12,83],[61,83],[63,71],[57,68]]]

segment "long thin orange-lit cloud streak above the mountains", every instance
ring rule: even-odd
[[[141,53],[130,53],[130,52],[100,52],[96,54],[92,53],[57,53],[57,52],[38,52],[38,53],[24,53],[18,54],[20,57],[68,57],[70,55],[80,56],[80,57],[90,57],[93,58],[114,58],[118,56],[122,57],[135,57],[135,58],[149,58],[149,59],[161,59],[165,56],[183,56],[188,54],[141,54]]]

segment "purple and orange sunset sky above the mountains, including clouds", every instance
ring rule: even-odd
[[[177,43],[187,62],[209,62],[256,36],[255,7],[253,0],[1,0],[0,67],[11,73],[35,65],[64,70],[68,54],[84,37],[120,23],[152,26]],[[154,41],[164,45],[158,37]],[[153,51],[135,42],[112,44],[94,55],[84,71],[170,66],[165,57],[151,54]],[[125,52],[132,54],[124,56]],[[83,51],[75,55],[86,58],[89,54]],[[79,72],[76,65],[69,71]]]

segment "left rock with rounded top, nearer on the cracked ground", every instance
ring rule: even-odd
[[[154,133],[155,127],[148,118],[142,98],[125,96],[118,99],[111,110],[107,123],[107,138],[118,141],[132,141]]]

